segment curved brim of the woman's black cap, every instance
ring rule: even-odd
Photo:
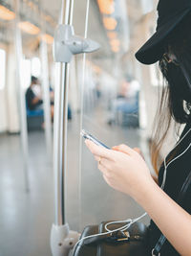
[[[170,35],[174,29],[180,24],[180,21],[191,12],[186,9],[173,16],[169,21],[163,24],[159,30],[146,41],[146,43],[136,53],[136,58],[143,64],[153,64],[159,60],[164,54],[164,40]]]

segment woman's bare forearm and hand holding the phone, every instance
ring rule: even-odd
[[[120,145],[106,150],[86,140],[98,169],[113,188],[135,198],[180,255],[191,255],[191,216],[155,183],[137,151]],[[177,223],[181,223],[177,228]],[[182,236],[184,234],[184,236]]]

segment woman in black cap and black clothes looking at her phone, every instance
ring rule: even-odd
[[[152,147],[155,168],[172,118],[178,125],[186,125],[176,147],[159,168],[158,182],[150,175],[138,151],[126,145],[110,151],[89,140],[86,140],[86,145],[95,155],[105,181],[137,200],[151,217],[149,255],[188,256],[191,255],[191,186],[186,190],[183,205],[178,203],[178,198],[191,171],[191,1],[160,0],[158,11],[157,32],[136,55],[145,64],[159,60],[168,85],[162,93],[160,118],[159,113],[157,115],[157,146]],[[161,234],[168,241],[162,244],[158,254],[154,248]]]

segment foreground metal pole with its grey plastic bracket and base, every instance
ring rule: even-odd
[[[53,256],[68,256],[71,248],[77,243],[79,234],[72,231],[65,217],[65,184],[67,170],[67,127],[68,127],[68,82],[70,61],[74,54],[93,52],[99,45],[93,40],[74,37],[73,23],[74,0],[62,2],[60,23],[54,35],[54,59],[57,64],[56,76],[59,81],[55,86],[55,111],[53,130],[53,170],[55,220],[52,226],[51,247]],[[65,22],[63,24],[63,22]]]

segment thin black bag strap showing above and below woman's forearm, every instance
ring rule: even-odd
[[[189,186],[191,185],[191,172],[189,173],[189,175],[187,175],[182,187],[181,187],[181,190],[180,190],[180,194],[179,194],[179,197],[178,197],[178,200],[177,202],[182,205],[183,204],[183,199],[185,198],[185,194],[186,192],[188,191],[188,188]],[[160,250],[161,250],[161,247],[163,246],[163,244],[166,242],[166,238],[164,235],[161,235],[159,237],[159,241],[158,243],[156,244],[155,248],[152,250],[152,256],[159,256],[160,255]]]

